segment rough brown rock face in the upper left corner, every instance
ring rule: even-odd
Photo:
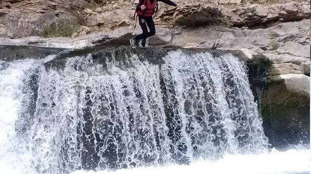
[[[4,0],[0,4],[0,37],[38,36],[52,23],[77,24],[74,9],[84,0]]]

